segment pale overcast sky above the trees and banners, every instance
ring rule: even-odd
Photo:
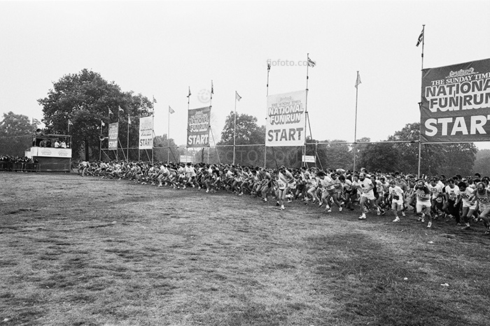
[[[190,108],[209,105],[216,142],[234,110],[265,125],[269,94],[304,90],[314,139],[385,140],[420,119],[424,68],[490,57],[490,1],[0,1],[0,114],[43,118],[37,99],[92,69],[157,99],[155,133],[186,143]],[[286,66],[292,62],[295,66]],[[281,66],[283,64],[283,66]],[[213,141],[211,139],[211,145]],[[477,143],[490,148],[490,143]]]

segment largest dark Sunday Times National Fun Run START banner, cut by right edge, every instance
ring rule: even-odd
[[[423,69],[421,141],[490,141],[490,59]]]

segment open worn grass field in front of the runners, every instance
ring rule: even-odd
[[[0,325],[490,325],[480,224],[0,173]]]

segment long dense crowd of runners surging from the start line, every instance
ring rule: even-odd
[[[423,176],[381,171],[358,172],[344,169],[302,167],[265,169],[228,164],[191,164],[164,162],[86,162],[78,164],[81,176],[132,180],[142,185],[186,189],[195,187],[204,192],[248,194],[262,201],[275,200],[279,209],[288,203],[302,201],[324,207],[360,211],[360,220],[368,213],[385,215],[391,211],[393,222],[399,222],[407,211],[418,215],[420,222],[431,227],[438,218],[454,220],[462,229],[482,220],[485,234],[490,234],[489,178],[475,173],[466,178]]]

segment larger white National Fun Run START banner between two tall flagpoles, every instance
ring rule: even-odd
[[[265,146],[304,145],[306,90],[267,97]]]

